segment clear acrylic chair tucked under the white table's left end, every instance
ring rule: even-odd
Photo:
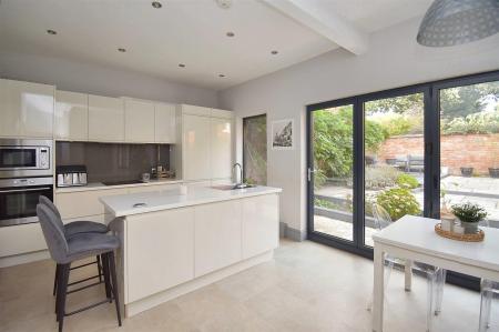
[[[393,223],[388,212],[379,204],[373,203],[373,215],[375,218],[375,227],[378,231],[390,225]],[[385,255],[385,290],[388,285],[390,279],[391,270],[395,265],[404,266],[406,264],[405,260],[391,256],[389,254]],[[441,302],[444,298],[444,285],[446,282],[446,270],[438,266],[432,266],[425,263],[413,262],[413,270],[419,271],[427,278],[427,314],[426,314],[426,329],[427,331],[432,330],[434,315],[438,315],[441,311]],[[369,301],[368,310],[373,306],[373,300]]]

